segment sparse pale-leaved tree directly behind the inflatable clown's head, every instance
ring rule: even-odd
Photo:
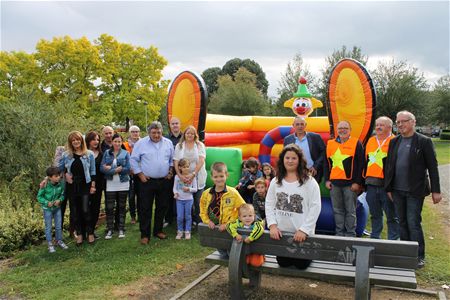
[[[281,75],[279,88],[277,89],[278,99],[272,107],[274,115],[292,116],[292,110],[284,107],[284,102],[292,98],[293,94],[297,92],[300,76],[306,78],[308,81],[308,90],[315,96],[318,80],[314,78],[309,67],[304,64],[302,55],[298,53],[288,62],[286,70]]]

